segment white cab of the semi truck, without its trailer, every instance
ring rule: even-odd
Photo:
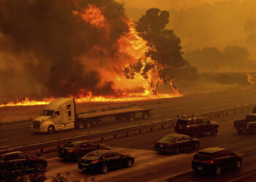
[[[75,99],[57,98],[45,106],[31,125],[32,132],[53,133],[75,127]]]

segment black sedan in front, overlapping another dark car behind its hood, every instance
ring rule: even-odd
[[[108,173],[121,167],[132,167],[135,159],[129,154],[115,151],[97,150],[91,151],[80,159],[78,168],[80,170],[93,170],[100,173]]]

